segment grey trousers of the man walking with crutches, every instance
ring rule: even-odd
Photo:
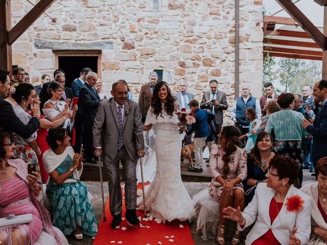
[[[122,214],[122,190],[119,175],[119,162],[123,164],[125,181],[125,207],[126,209],[136,209],[136,164],[125,147],[117,152],[112,162],[104,159],[103,165],[109,175],[109,208],[111,215]]]

